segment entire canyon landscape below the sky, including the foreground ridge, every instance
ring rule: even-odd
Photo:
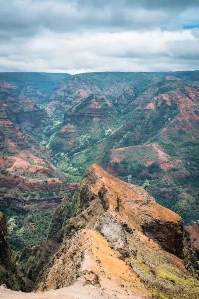
[[[1,297],[197,298],[198,82],[0,73]]]

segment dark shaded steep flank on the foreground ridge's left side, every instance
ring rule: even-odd
[[[65,236],[65,225],[69,218],[75,216],[75,195],[67,194],[52,215],[47,239],[33,246],[25,248],[18,261],[18,267],[25,277],[35,285],[40,282],[46,265],[58,251]]]

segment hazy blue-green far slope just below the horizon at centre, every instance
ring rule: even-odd
[[[132,82],[162,77],[155,73],[101,72],[73,75],[62,80],[44,107],[55,120],[62,120],[66,110],[80,104],[90,95],[114,99]]]

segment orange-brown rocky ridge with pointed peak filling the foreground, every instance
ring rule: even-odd
[[[76,216],[61,227],[58,251],[48,259],[50,247],[40,248],[45,261],[34,278],[36,293],[1,287],[0,298],[197,298],[198,262],[179,215],[97,164],[85,172],[74,200]],[[28,278],[36,263],[32,250]]]

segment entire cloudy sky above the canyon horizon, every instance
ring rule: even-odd
[[[199,0],[0,0],[0,71],[199,69]]]

